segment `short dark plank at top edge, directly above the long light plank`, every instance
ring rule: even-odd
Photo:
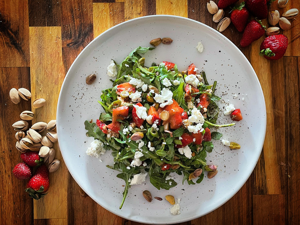
[[[60,26],[60,0],[28,0],[29,26]]]

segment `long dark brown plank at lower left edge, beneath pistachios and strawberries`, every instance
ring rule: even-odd
[[[27,180],[19,180],[12,174],[14,165],[22,160],[15,148],[15,131],[11,126],[20,120],[23,110],[31,110],[31,102],[21,99],[18,104],[12,103],[9,98],[12,87],[30,89],[28,67],[0,68],[0,219],[5,224],[32,224],[33,199],[24,191]]]

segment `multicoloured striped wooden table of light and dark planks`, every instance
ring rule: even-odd
[[[289,0],[286,8],[299,8]],[[271,4],[276,9],[276,2]],[[228,14],[228,10],[226,12]],[[139,224],[118,217],[88,197],[62,166],[50,174],[48,194],[38,201],[12,175],[20,162],[11,124],[31,102],[13,104],[9,89],[31,89],[45,106],[33,109],[33,122],[55,119],[63,78],[79,52],[94,37],[122,21],[150,14],[189,17],[213,28],[206,0],[1,0],[0,1],[0,221],[3,224]],[[300,224],[299,16],[288,37],[285,56],[268,61],[258,55],[264,37],[240,48],[252,64],[265,97],[267,129],[258,163],[242,188],[213,212],[180,224]],[[263,20],[264,24],[267,21]],[[223,34],[239,46],[231,24]],[[253,105],[255,107],[255,105]]]

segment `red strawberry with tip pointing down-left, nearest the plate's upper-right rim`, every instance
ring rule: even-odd
[[[246,47],[251,44],[254,40],[259,39],[265,32],[265,26],[262,25],[260,20],[251,20],[247,24],[241,39],[240,46]]]

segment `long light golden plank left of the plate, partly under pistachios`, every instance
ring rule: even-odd
[[[46,99],[46,104],[33,109],[36,117],[32,122],[48,122],[56,117],[59,90],[65,75],[61,55],[61,29],[57,26],[29,27],[30,36],[30,75],[32,101],[37,97]],[[62,160],[58,144],[53,144],[55,158],[61,166],[49,174],[48,194],[34,201],[34,218],[65,218],[67,169]]]

